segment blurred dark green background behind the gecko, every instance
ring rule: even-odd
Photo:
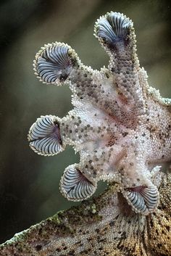
[[[64,41],[84,64],[96,69],[107,65],[93,25],[111,10],[133,20],[149,83],[160,88],[162,96],[171,96],[170,1],[1,1],[0,242],[74,205],[60,194],[59,179],[79,156],[67,147],[57,156],[41,157],[28,146],[28,129],[37,117],[63,117],[72,109],[69,88],[40,83],[33,74],[33,59],[43,44]]]

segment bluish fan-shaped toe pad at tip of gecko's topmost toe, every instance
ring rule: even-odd
[[[95,23],[94,32],[110,57],[115,52],[116,60],[126,55],[127,58],[131,57],[129,54],[135,50],[130,47],[135,45],[133,22],[120,12],[107,12],[107,15],[100,17]]]

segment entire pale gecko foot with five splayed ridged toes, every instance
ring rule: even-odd
[[[64,43],[47,44],[34,61],[43,83],[67,84],[73,110],[59,118],[41,116],[30,128],[30,147],[44,156],[69,144],[80,162],[64,170],[64,197],[91,197],[100,180],[120,184],[132,209],[148,215],[157,209],[159,191],[152,182],[162,162],[170,161],[170,99],[147,82],[136,54],[133,22],[119,12],[97,20],[95,36],[109,55],[108,67],[86,67]]]

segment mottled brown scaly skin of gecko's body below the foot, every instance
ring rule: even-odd
[[[156,212],[135,214],[120,187],[83,202],[16,234],[2,244],[1,256],[169,256],[171,176],[158,173]]]

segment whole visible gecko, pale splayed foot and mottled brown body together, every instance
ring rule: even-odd
[[[30,146],[43,155],[66,144],[80,152],[80,163],[62,177],[68,199],[87,199],[100,179],[114,183],[99,197],[16,234],[1,245],[1,256],[170,255],[171,177],[157,165],[170,160],[170,99],[149,87],[132,25],[112,12],[96,23],[110,57],[101,72],[83,66],[67,44],[49,44],[36,55],[41,80],[69,83],[74,110],[62,119],[39,118],[30,128]]]

